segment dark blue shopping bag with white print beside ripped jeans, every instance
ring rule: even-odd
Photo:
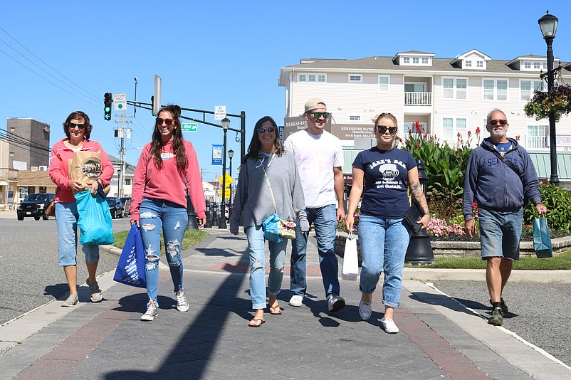
[[[144,249],[141,231],[137,227],[137,223],[133,223],[119,256],[113,280],[125,285],[147,287]]]

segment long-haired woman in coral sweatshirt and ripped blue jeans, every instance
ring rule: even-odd
[[[135,169],[131,195],[131,224],[141,228],[145,246],[145,278],[147,280],[147,312],[142,321],[157,317],[157,288],[161,231],[169,263],[177,310],[189,310],[182,285],[180,251],[187,229],[187,188],[199,226],[206,223],[206,202],[194,147],[182,138],[180,107],[167,105],[159,110],[152,133],[152,142],[145,145]]]

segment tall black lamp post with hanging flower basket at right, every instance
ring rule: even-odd
[[[553,38],[557,32],[557,17],[546,12],[545,16],[539,19],[539,27],[545,43],[548,44],[548,91],[553,89],[554,73],[553,73]],[[557,134],[555,132],[555,111],[549,112],[549,148],[551,158],[551,176],[549,179],[550,184],[559,186],[559,177],[557,176]]]

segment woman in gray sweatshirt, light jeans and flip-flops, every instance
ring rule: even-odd
[[[284,220],[300,223],[302,231],[309,230],[295,159],[293,154],[283,149],[276,122],[264,116],[256,122],[248,153],[241,162],[230,217],[230,232],[238,235],[238,225],[243,216],[243,228],[248,238],[250,296],[252,308],[256,310],[253,320],[248,323],[250,327],[260,327],[266,322],[263,319],[266,308],[266,255],[262,223],[274,212]],[[279,243],[268,241],[270,314],[281,314],[277,295],[281,289],[287,245],[285,239]]]

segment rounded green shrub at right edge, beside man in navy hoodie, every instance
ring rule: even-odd
[[[539,186],[541,199],[548,208],[548,226],[554,231],[571,232],[571,193],[552,184]],[[530,225],[538,218],[538,211],[532,202],[523,207],[523,224]]]

